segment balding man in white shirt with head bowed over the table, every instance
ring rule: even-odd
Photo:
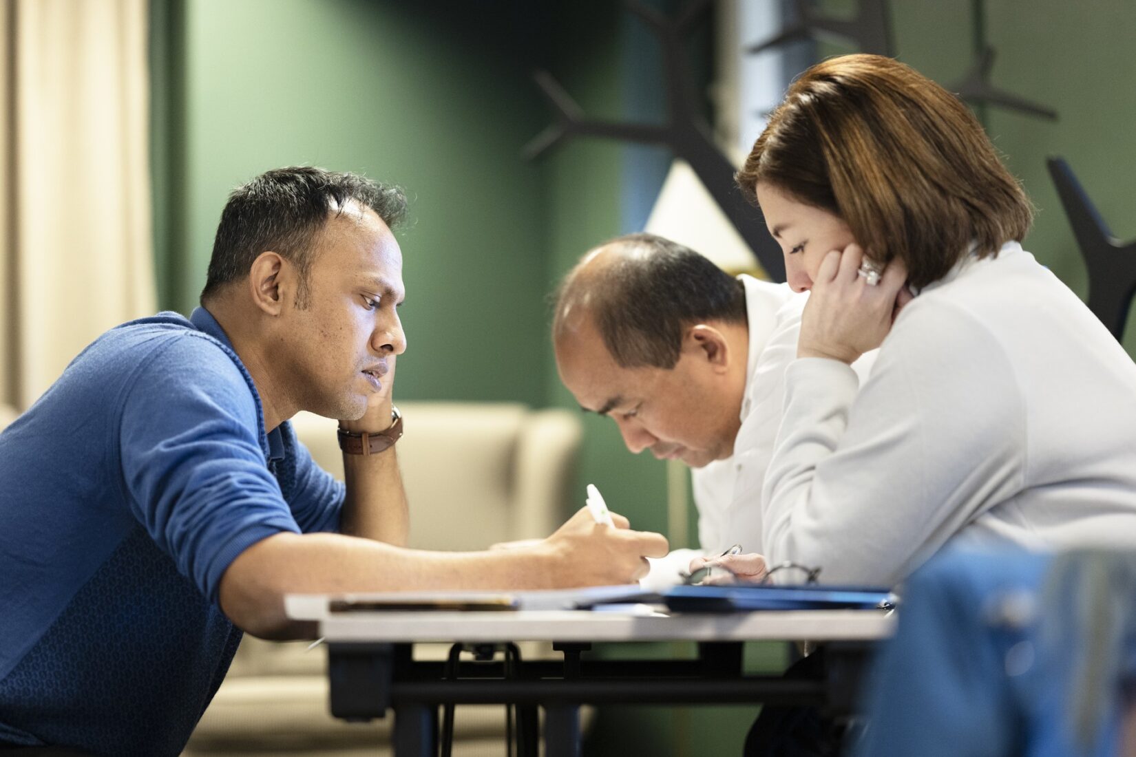
[[[553,321],[565,386],[630,452],[692,468],[700,549],[652,561],[644,586],[676,583],[735,544],[762,552],[761,488],[807,298],[650,234],[592,250],[565,278]],[[861,377],[874,358],[855,363]]]

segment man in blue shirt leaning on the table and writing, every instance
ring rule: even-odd
[[[584,511],[515,550],[404,548],[404,208],[351,174],[257,177],[201,308],[102,335],[0,434],[0,749],[179,754],[242,631],[310,631],[289,592],[620,583],[666,554]],[[346,486],[296,443],[300,410],[343,419]]]

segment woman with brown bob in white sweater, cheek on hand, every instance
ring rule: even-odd
[[[889,58],[826,60],[737,182],[810,291],[769,565],[891,586],[949,540],[1136,546],[1136,365],[1021,249],[1029,202],[966,106]]]

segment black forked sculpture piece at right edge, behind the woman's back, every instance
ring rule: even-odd
[[[1069,163],[1062,158],[1045,162],[1088,269],[1088,309],[1120,339],[1136,294],[1136,241],[1112,236]]]

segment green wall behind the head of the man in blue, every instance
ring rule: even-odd
[[[516,19],[470,35],[468,3],[159,5],[162,305],[195,303],[233,186],[285,165],[361,171],[411,197],[396,395],[544,404],[545,188],[520,158],[544,112],[511,58]]]

